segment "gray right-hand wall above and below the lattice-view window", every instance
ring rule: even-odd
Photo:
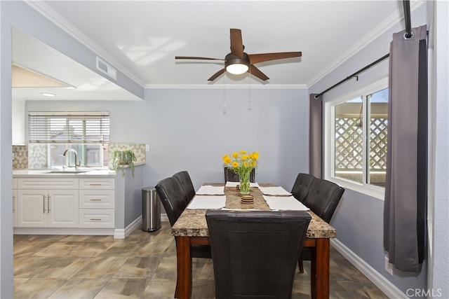
[[[413,27],[427,24],[427,9],[425,5],[412,13]],[[374,62],[389,53],[389,43],[394,32],[403,30],[403,23],[394,25],[380,37],[371,41],[366,48],[356,53],[354,57],[344,62],[340,67],[330,72],[313,86],[311,92],[321,92],[336,82],[346,78],[358,69]],[[358,90],[388,76],[388,60],[358,75],[358,81],[352,79],[327,92],[323,102],[341,97],[347,92]],[[326,120],[324,120],[326,122]],[[432,199],[430,199],[432,200]],[[339,207],[335,211],[331,224],[337,229],[337,239],[350,251],[362,258],[380,275],[394,284],[401,292],[410,295],[408,289],[427,290],[427,261],[419,274],[408,274],[394,271],[393,275],[384,270],[383,249],[383,209],[384,201],[347,188]],[[447,228],[446,228],[447,229]],[[414,292],[413,292],[414,293]],[[422,293],[421,293],[422,294]]]

